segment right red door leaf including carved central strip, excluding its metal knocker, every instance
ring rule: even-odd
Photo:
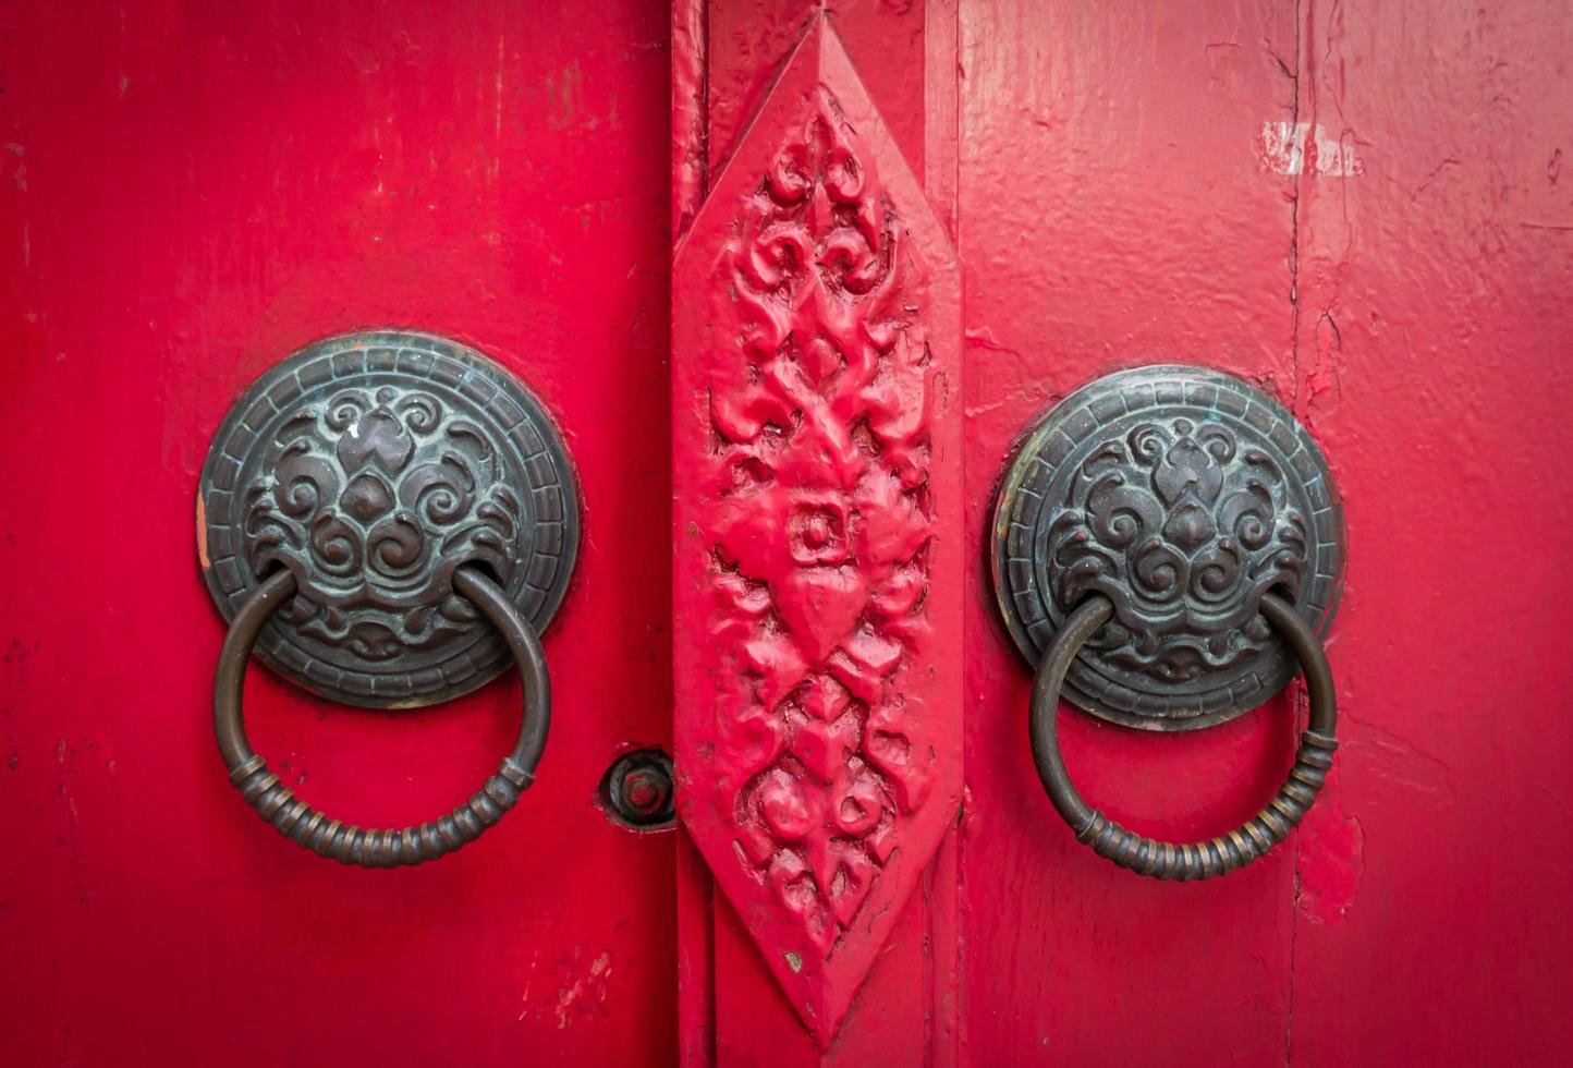
[[[687,1063],[1560,1062],[1568,13],[673,27]],[[1057,818],[988,563],[1021,434],[1159,362],[1287,407],[1348,536],[1328,786],[1194,884]],[[1273,796],[1304,703],[1178,735],[1066,706],[1062,747],[1106,813],[1199,840]]]

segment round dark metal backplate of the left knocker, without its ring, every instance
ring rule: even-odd
[[[546,629],[579,495],[557,428],[499,365],[423,333],[355,333],[296,352],[234,404],[203,466],[197,538],[225,620],[261,577],[294,574],[256,642],[274,670],[335,702],[414,708],[511,662],[455,591],[459,566]]]

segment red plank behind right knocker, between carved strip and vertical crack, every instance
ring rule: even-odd
[[[1263,123],[1293,121],[1277,61],[1293,49],[1282,3],[961,5],[977,540],[961,868],[980,1062],[1211,1065],[1222,1049],[1268,1063],[1284,1049],[1291,853],[1175,886],[1076,843],[1033,772],[1032,678],[999,623],[985,538],[1013,440],[1078,385],[1151,362],[1293,382],[1293,182],[1265,173],[1257,146]],[[1296,736],[1290,697],[1186,735],[1060,719],[1090,802],[1172,840],[1254,815]]]

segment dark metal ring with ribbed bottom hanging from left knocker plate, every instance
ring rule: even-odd
[[[439,819],[401,830],[368,830],[329,819],[286,790],[267,763],[252,750],[241,714],[241,692],[245,687],[245,664],[252,657],[256,635],[274,610],[296,591],[296,579],[280,571],[264,580],[234,613],[230,634],[219,653],[219,673],[212,683],[212,727],[219,736],[219,752],[230,769],[230,782],[263,819],[296,845],[341,864],[368,868],[392,868],[422,864],[453,853],[475,842],[486,827],[513,808],[519,794],[535,782],[535,766],[546,749],[546,731],[552,719],[552,683],[546,672],[546,653],[530,623],[508,601],[502,588],[481,573],[459,568],[453,573],[453,590],[491,620],[524,678],[524,722],[519,741],[503,757],[497,772],[462,805]]]

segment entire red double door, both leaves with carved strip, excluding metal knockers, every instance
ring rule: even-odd
[[[11,1062],[1562,1059],[1565,11],[0,25]],[[225,783],[190,540],[247,384],[370,329],[529,385],[584,522],[538,782],[395,871],[296,849]],[[1156,362],[1282,403],[1346,519],[1328,786],[1191,884],[1055,815],[988,557],[1022,433]],[[1060,735],[1090,801],[1194,840],[1271,796],[1304,705],[1178,735],[1066,705]],[[518,714],[511,676],[398,714],[247,684],[286,785],[373,826],[466,796]],[[639,747],[676,757],[675,834],[601,802]]]

